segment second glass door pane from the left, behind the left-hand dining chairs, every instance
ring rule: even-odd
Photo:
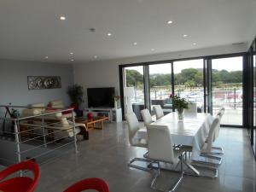
[[[171,63],[149,65],[149,90],[151,111],[160,105],[164,113],[172,112],[172,65]]]

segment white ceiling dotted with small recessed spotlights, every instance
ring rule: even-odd
[[[248,44],[255,26],[256,0],[1,0],[0,58],[70,63],[70,52],[83,62]]]

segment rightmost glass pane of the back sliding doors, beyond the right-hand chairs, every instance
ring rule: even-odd
[[[242,125],[242,56],[212,59],[212,114],[224,107],[223,125]]]

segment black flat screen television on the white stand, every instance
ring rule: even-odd
[[[113,108],[114,87],[87,88],[89,108]]]

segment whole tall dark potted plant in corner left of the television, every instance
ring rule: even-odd
[[[67,87],[67,95],[69,96],[72,104],[71,107],[74,108],[74,111],[77,113],[77,116],[82,116],[83,111],[79,110],[79,105],[84,102],[84,88],[79,84],[73,84]]]

